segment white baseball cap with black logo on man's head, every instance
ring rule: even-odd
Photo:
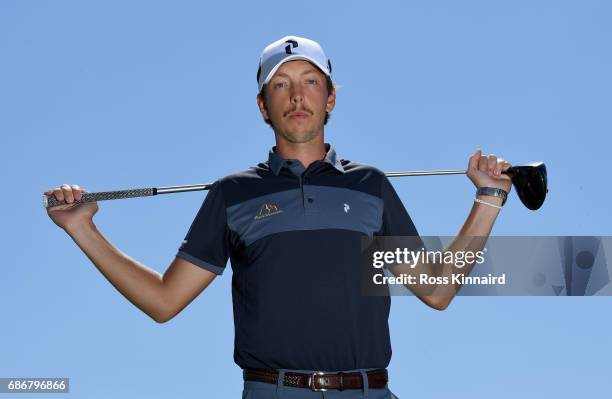
[[[261,53],[257,70],[258,91],[272,79],[282,63],[291,60],[310,61],[331,78],[331,62],[319,43],[304,37],[285,36],[269,44]]]

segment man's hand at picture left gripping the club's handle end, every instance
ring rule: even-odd
[[[98,211],[97,202],[85,202],[74,204],[80,200],[83,193],[88,191],[76,184],[62,184],[59,187],[49,189],[47,195],[54,195],[57,200],[65,200],[68,204],[47,208],[47,214],[53,222],[68,232],[71,229],[91,223],[93,215]]]

